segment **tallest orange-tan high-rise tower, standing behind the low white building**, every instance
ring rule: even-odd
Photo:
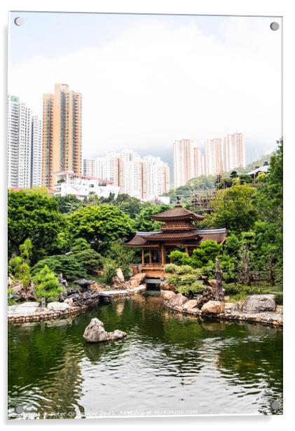
[[[43,94],[42,183],[53,187],[55,173],[81,174],[82,95],[66,84],[55,84],[54,94]]]

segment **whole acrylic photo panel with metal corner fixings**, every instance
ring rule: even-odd
[[[8,44],[8,418],[282,414],[282,17]]]

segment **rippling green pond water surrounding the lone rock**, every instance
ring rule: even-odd
[[[128,337],[87,344],[92,317]],[[282,413],[280,328],[174,314],[155,295],[10,325],[8,341],[10,418]]]

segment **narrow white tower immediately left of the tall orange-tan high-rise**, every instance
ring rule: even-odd
[[[42,122],[32,117],[32,174],[31,187],[42,184]]]

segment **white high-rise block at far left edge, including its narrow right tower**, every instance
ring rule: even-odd
[[[41,184],[41,150],[41,121],[8,95],[8,188]]]

